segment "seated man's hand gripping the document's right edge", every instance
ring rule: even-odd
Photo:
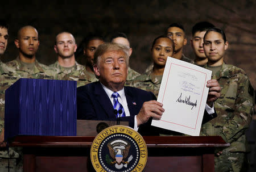
[[[214,101],[220,97],[221,87],[216,79],[210,79],[207,81],[207,87],[209,87],[207,104],[208,106],[212,107]]]

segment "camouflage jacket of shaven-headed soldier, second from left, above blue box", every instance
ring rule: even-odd
[[[46,65],[40,64],[37,60],[35,61],[34,68],[28,69],[24,66],[19,57],[15,60],[6,63],[9,68],[15,70],[15,77],[19,78],[37,78],[37,79],[53,79],[54,71]]]

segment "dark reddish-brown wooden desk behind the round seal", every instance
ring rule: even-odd
[[[143,171],[214,171],[214,150],[229,146],[220,136],[144,136],[148,149]],[[16,136],[23,147],[23,171],[94,171],[91,136]]]

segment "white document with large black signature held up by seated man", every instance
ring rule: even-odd
[[[168,57],[158,94],[165,111],[151,125],[199,136],[211,75],[210,70]]]

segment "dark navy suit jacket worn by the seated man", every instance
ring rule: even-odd
[[[121,120],[129,121],[129,126],[134,128],[134,116],[139,113],[142,104],[150,100],[156,100],[156,97],[151,92],[126,86],[125,96],[130,116],[123,117]],[[212,118],[215,118],[215,116],[204,115],[203,123]],[[112,102],[100,82],[89,83],[77,88],[77,119],[117,120]],[[140,125],[139,133],[142,135],[158,135],[159,129],[152,127],[151,121],[152,119],[148,120],[146,124]]]

